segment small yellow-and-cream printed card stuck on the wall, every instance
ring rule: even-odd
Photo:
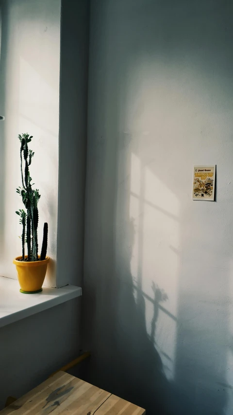
[[[194,166],[193,200],[215,200],[216,165]]]

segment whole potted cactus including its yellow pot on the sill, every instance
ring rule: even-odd
[[[33,136],[29,134],[19,134],[20,141],[20,164],[22,187],[17,188],[17,193],[22,197],[25,211],[19,209],[16,213],[20,217],[19,222],[22,225],[22,255],[17,256],[13,263],[16,265],[17,276],[20,285],[20,292],[35,293],[42,291],[42,285],[45,279],[47,265],[50,258],[46,256],[48,243],[48,223],[44,224],[44,235],[41,248],[41,254],[38,255],[38,201],[40,199],[39,190],[33,189],[32,178],[29,172],[29,166],[32,163],[34,153],[29,150],[28,144],[32,141]],[[27,245],[27,255],[25,254],[25,245]]]

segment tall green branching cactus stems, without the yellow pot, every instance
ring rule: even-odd
[[[29,150],[28,144],[32,141],[33,136],[29,137],[29,134],[19,134],[18,135],[20,145],[20,165],[21,165],[21,179],[22,179],[22,188],[17,188],[17,193],[22,197],[23,204],[27,210],[27,213],[24,210],[19,209],[17,215],[20,216],[20,224],[23,227],[22,232],[22,261],[38,261],[38,238],[37,238],[37,228],[38,228],[38,201],[40,199],[39,190],[32,188],[32,178],[30,177],[29,166],[32,163],[32,158],[34,152]],[[23,168],[24,164],[24,168]],[[25,230],[27,227],[27,230]],[[46,257],[47,250],[47,236],[48,235],[48,224],[45,224],[44,227],[44,237],[42,244],[42,253],[43,259]],[[28,257],[25,259],[25,239],[27,242]],[[46,249],[45,249],[46,246]],[[45,254],[44,254],[45,253]]]

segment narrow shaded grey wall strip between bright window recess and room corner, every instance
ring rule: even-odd
[[[89,1],[62,1],[57,287],[83,279]]]

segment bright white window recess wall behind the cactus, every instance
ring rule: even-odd
[[[0,275],[16,278],[12,264],[21,253],[21,227],[15,211],[23,208],[17,135],[33,135],[30,173],[39,189],[38,240],[49,223],[46,284],[55,286],[58,206],[58,131],[60,76],[60,0],[4,0],[1,28],[1,205]],[[40,248],[39,248],[40,249]]]

